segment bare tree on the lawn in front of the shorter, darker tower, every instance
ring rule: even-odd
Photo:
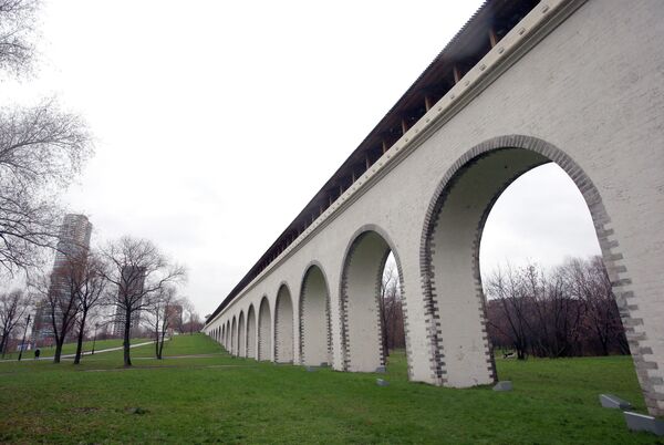
[[[110,304],[115,308],[116,322],[124,327],[124,365],[131,366],[132,321],[153,304],[165,287],[186,279],[186,271],[146,239],[122,237],[110,242],[103,255],[110,266],[104,276],[117,290]]]

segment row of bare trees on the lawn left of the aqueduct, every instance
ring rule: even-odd
[[[100,325],[104,330],[108,325],[123,328],[125,366],[132,365],[132,327],[146,327],[155,340],[157,359],[162,359],[169,332],[191,333],[200,329],[191,303],[178,293],[186,269],[169,260],[152,241],[125,236],[98,249],[81,246],[64,258],[52,270],[31,269],[23,288],[0,292],[2,356],[10,340],[15,344],[27,331],[27,315],[38,307],[45,311],[55,343],[54,363],[60,363],[62,346],[71,339],[76,341],[74,364],[81,362],[83,341],[91,337],[91,319],[95,333]],[[174,317],[178,314],[174,310],[179,311],[179,318]],[[188,312],[188,322],[184,322],[183,311]]]

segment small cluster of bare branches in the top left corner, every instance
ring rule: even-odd
[[[38,0],[0,0],[0,70],[30,72],[34,59]]]

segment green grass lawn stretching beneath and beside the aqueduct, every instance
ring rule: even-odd
[[[406,380],[403,353],[382,377],[234,359],[210,339],[83,363],[0,363],[0,442],[655,444],[602,408],[614,393],[644,412],[630,358],[497,360],[515,391],[452,390]],[[180,358],[200,354],[204,356]],[[209,355],[208,355],[209,354]]]

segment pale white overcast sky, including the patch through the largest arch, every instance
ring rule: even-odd
[[[65,203],[93,244],[147,237],[185,263],[206,314],[480,3],[45,1],[34,79],[1,96],[85,116],[96,155]],[[598,251],[581,195],[544,166],[498,200],[481,267]]]

